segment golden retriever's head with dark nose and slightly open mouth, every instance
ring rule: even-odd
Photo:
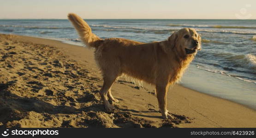
[[[184,28],[174,32],[168,41],[172,48],[176,48],[185,55],[196,54],[197,50],[201,50],[201,37],[196,33],[195,29]]]

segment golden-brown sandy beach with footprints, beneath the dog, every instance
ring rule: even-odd
[[[256,111],[175,85],[161,119],[154,87],[119,78],[106,111],[93,50],[57,40],[0,35],[0,127],[256,127]]]

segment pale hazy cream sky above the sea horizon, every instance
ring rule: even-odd
[[[0,0],[0,19],[256,19],[256,0]]]

